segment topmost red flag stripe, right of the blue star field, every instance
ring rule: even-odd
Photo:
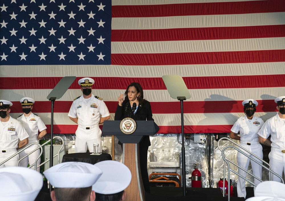
[[[274,13],[284,11],[284,0],[181,3],[166,5],[116,5],[112,6],[112,18]]]

